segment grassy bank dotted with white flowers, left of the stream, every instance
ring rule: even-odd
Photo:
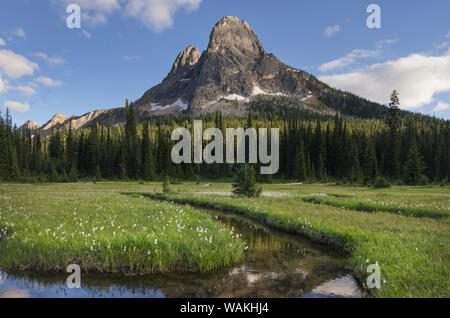
[[[245,243],[211,216],[116,191],[126,187],[2,186],[1,267],[146,274],[209,271],[240,258]]]

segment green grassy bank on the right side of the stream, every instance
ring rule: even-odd
[[[223,189],[222,186],[218,187]],[[306,190],[306,189],[308,190]],[[265,190],[290,193],[286,197],[245,199],[184,193],[161,197],[172,202],[189,203],[208,208],[235,211],[288,232],[295,232],[349,254],[355,276],[365,282],[369,264],[378,263],[382,288],[366,289],[377,297],[449,297],[450,296],[450,224],[448,216],[419,218],[393,213],[362,213],[302,200],[305,191],[327,192],[335,197],[384,197],[387,202],[402,199],[404,206],[433,206],[440,215],[448,213],[448,189],[427,189],[432,199],[420,201],[414,196],[420,189],[411,188],[410,196],[401,193],[408,188],[372,192],[367,188],[307,186],[305,188],[265,186]],[[211,189],[212,194],[214,189]],[[313,191],[314,190],[314,191]],[[422,202],[422,203],[420,203]],[[447,202],[447,204],[446,204]],[[431,203],[430,203],[431,204]]]

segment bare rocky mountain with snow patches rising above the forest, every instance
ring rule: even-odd
[[[310,98],[317,80],[268,54],[249,24],[223,17],[212,28],[207,49],[189,46],[176,58],[161,84],[134,103],[138,116],[221,110],[241,112],[255,95]],[[230,107],[237,100],[242,107]]]

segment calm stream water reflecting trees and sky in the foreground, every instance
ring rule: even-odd
[[[0,297],[361,297],[344,258],[245,218],[214,213],[248,243],[232,268],[206,274],[83,274],[68,289],[64,274],[1,273]]]

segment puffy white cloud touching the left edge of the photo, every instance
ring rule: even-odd
[[[33,75],[39,69],[36,63],[10,50],[0,50],[0,74],[17,79],[24,75]]]

